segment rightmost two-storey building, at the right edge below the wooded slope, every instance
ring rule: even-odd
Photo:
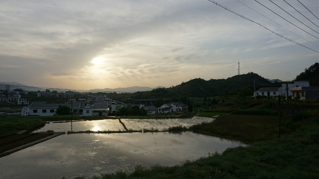
[[[319,100],[319,87],[293,87],[289,88],[292,96],[299,100]]]

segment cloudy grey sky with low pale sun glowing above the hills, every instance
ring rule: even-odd
[[[300,13],[273,0],[300,21],[270,0],[216,2],[249,20],[209,0],[0,0],[0,81],[168,88],[233,77],[238,62],[240,74],[291,81],[319,62],[316,0],[288,0]]]

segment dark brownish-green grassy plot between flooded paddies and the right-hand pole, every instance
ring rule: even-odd
[[[252,143],[261,140],[271,140],[278,136],[278,116],[262,115],[220,115],[211,123],[202,123],[190,127],[225,138]],[[282,119],[282,122],[287,119]],[[288,129],[282,129],[288,132]]]

